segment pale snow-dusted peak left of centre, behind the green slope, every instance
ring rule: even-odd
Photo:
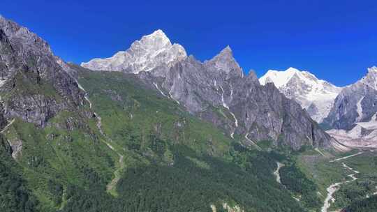
[[[139,73],[163,67],[163,70],[159,71],[165,72],[166,67],[174,66],[186,57],[184,47],[170,43],[165,33],[158,29],[136,40],[125,52],[117,52],[110,58],[92,59],[87,63],[81,63],[81,66],[91,70],[115,70],[126,73]]]

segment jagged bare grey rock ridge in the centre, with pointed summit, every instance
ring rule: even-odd
[[[101,67],[112,68],[113,64],[130,66],[133,63],[108,62],[105,61]],[[304,145],[332,145],[333,139],[320,130],[300,105],[283,96],[273,84],[260,85],[255,73],[244,76],[230,47],[204,63],[188,56],[169,65],[161,64],[151,70],[121,70],[138,73],[161,95],[223,128],[230,137],[239,137],[245,144],[258,145],[258,141],[268,139],[273,140],[275,145],[285,143],[293,149]],[[86,63],[82,66],[90,68]],[[118,68],[114,70],[119,71]]]

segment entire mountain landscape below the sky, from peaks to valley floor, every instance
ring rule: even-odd
[[[244,75],[161,30],[80,66],[0,17],[0,211],[376,211],[377,68]]]

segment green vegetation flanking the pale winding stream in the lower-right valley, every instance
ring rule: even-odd
[[[350,156],[354,153],[356,153],[356,151],[348,153],[332,152],[333,155],[335,154],[334,156],[336,156],[336,158]],[[327,153],[325,152],[325,154]],[[373,152],[365,152],[361,155],[347,158],[346,160],[330,162],[329,158],[321,156],[320,153],[313,150],[306,150],[299,153],[297,157],[295,157],[295,161],[297,164],[296,167],[316,184],[318,197],[321,199],[322,204],[327,195],[326,188],[329,185],[351,180],[348,175],[354,174],[354,172],[343,167],[343,162],[348,167],[360,172],[356,174],[358,178],[356,181],[342,184],[340,189],[332,195],[335,202],[330,205],[329,210],[337,211],[350,204],[361,202],[362,199],[366,199],[367,196],[371,196],[376,192],[377,169],[375,163],[371,162],[374,161],[375,154],[376,153]],[[301,186],[298,187],[301,188]]]

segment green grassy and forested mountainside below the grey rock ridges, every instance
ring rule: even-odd
[[[133,75],[82,70],[79,81],[93,108],[45,128],[15,119],[3,133],[22,142],[17,173],[34,211],[305,211],[272,174],[280,156],[245,149]]]

